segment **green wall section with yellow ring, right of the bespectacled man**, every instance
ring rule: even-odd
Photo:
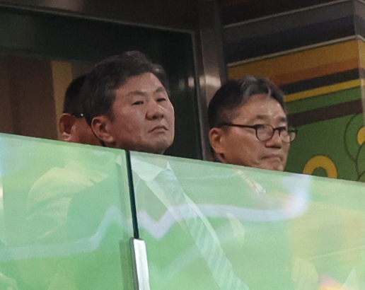
[[[364,144],[358,135],[364,126],[362,114],[348,115],[299,127],[299,134],[291,144],[286,170],[302,173],[306,164],[315,156],[325,156],[327,161],[313,165],[313,175],[330,176],[330,161],[337,170],[337,177],[359,180],[364,172]],[[313,161],[314,162],[314,161]],[[325,173],[323,172],[325,170]],[[306,172],[311,173],[311,172]]]

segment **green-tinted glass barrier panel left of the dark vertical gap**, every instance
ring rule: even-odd
[[[0,134],[0,289],[132,289],[120,150]]]

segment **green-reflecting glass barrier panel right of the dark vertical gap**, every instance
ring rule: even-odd
[[[132,153],[152,290],[365,289],[365,184]]]

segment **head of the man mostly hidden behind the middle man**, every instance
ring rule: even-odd
[[[71,81],[64,96],[64,110],[59,118],[59,132],[63,141],[100,145],[91,127],[83,117],[80,91],[86,75]]]

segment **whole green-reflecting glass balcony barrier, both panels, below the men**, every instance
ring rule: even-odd
[[[133,289],[124,151],[0,135],[0,289]],[[132,153],[152,290],[365,289],[365,185]]]

